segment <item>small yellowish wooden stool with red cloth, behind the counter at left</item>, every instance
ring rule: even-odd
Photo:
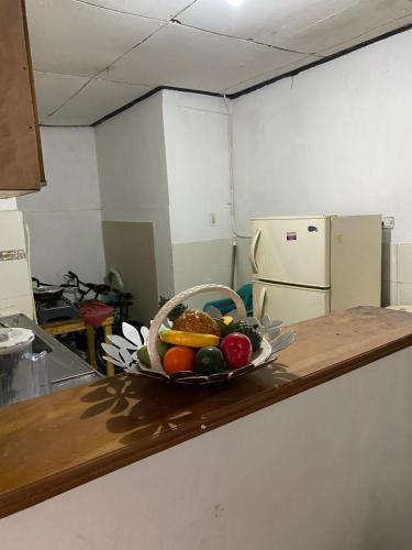
[[[104,331],[104,341],[108,341],[108,337],[112,333],[114,317],[110,316],[104,319],[101,323]],[[58,334],[67,334],[68,332],[78,332],[86,330],[87,334],[87,349],[89,355],[90,365],[97,370],[98,363],[96,358],[96,338],[94,338],[94,327],[90,327],[90,324],[86,324],[85,320],[80,317],[77,319],[67,319],[64,321],[53,321],[47,322],[46,324],[42,324],[42,329],[46,331],[48,334],[56,337]],[[108,376],[114,375],[114,365],[109,361],[105,362],[107,374]]]

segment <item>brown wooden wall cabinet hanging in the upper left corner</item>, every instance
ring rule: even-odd
[[[24,0],[0,0],[0,198],[44,183]]]

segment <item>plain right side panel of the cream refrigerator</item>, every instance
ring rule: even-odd
[[[332,311],[380,306],[381,222],[380,215],[332,218]]]

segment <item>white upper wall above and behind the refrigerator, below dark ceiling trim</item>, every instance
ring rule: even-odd
[[[412,240],[412,32],[234,101],[237,216],[396,217]]]

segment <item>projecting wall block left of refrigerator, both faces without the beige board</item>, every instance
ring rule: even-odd
[[[230,282],[227,134],[222,99],[169,90],[97,127],[103,220],[154,223],[158,294]]]

